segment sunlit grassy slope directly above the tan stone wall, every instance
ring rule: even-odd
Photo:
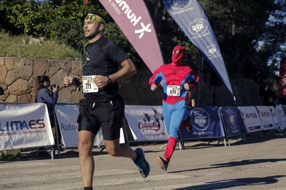
[[[0,56],[31,57],[61,60],[81,60],[81,54],[74,49],[55,42],[27,44],[29,37],[11,36],[0,32]]]

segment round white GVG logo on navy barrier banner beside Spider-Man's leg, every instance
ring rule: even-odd
[[[201,108],[195,108],[191,111],[191,117],[193,123],[193,127],[197,130],[204,131],[208,128],[210,124],[210,116],[208,112],[204,111]]]

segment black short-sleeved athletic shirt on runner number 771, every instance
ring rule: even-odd
[[[111,75],[118,71],[118,65],[129,57],[113,41],[101,37],[94,43],[85,47],[89,59],[83,66],[83,76],[88,75]],[[86,62],[88,55],[82,50],[82,64]],[[109,102],[114,100],[119,94],[118,82],[109,83],[104,88],[99,88],[98,92],[84,93],[84,100],[88,102]]]

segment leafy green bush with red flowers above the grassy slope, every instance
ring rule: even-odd
[[[59,19],[78,22],[77,27],[90,10],[107,15],[99,5],[85,4],[83,0],[72,0],[63,5],[54,5],[52,1],[1,0],[0,25],[7,25],[8,22],[24,34],[41,36],[46,33],[47,27],[59,22]]]

